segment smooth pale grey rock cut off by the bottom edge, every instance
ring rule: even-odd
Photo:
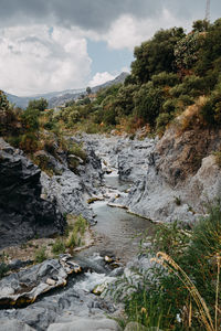
[[[106,318],[73,318],[67,323],[55,323],[48,331],[120,331],[116,321]]]

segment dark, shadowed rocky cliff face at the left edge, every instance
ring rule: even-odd
[[[62,233],[54,203],[41,199],[40,169],[0,138],[0,248]]]

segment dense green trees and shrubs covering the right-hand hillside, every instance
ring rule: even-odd
[[[131,73],[124,84],[83,95],[60,111],[50,114],[45,128],[87,132],[148,131],[162,134],[188,106],[199,107],[192,125],[221,122],[221,19],[213,24],[193,23],[188,34],[182,28],[158,31],[135,47]],[[28,108],[29,109],[29,108]]]

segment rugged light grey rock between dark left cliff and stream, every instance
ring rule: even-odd
[[[73,141],[78,142],[74,138]],[[42,172],[42,194],[46,200],[55,201],[62,213],[83,215],[87,221],[94,223],[94,213],[87,204],[87,200],[98,193],[103,171],[101,160],[96,157],[93,148],[85,146],[85,150],[86,162],[76,168],[77,173],[67,167],[60,175],[49,177]]]

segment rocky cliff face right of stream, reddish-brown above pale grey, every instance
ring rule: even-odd
[[[137,154],[138,142],[118,152],[123,179],[133,180],[129,193],[112,200],[110,205],[152,221],[182,221],[191,224],[206,212],[206,204],[221,196],[221,170],[213,151],[221,149],[221,130],[194,129],[180,132],[172,127],[152,148]],[[147,141],[143,142],[144,146]],[[134,169],[129,166],[134,158]],[[140,164],[145,175],[140,175]],[[130,173],[134,173],[133,178]]]

